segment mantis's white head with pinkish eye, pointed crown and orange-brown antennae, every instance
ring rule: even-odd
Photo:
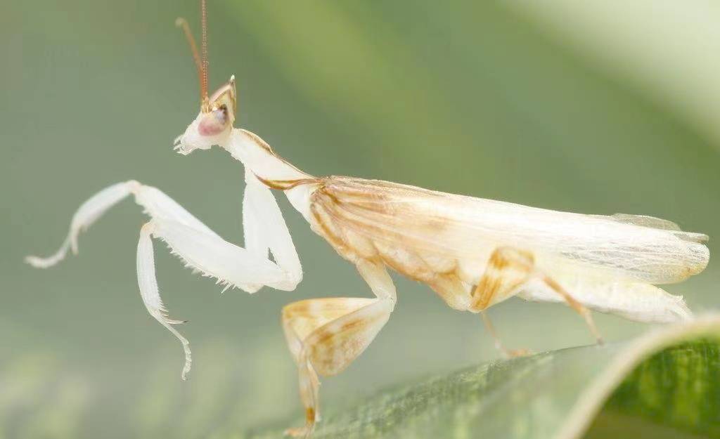
[[[200,82],[200,112],[185,132],[176,137],[174,142],[174,149],[183,155],[198,149],[210,149],[212,145],[224,146],[233,130],[237,109],[235,76],[230,76],[230,81],[217,89],[215,93],[207,95],[207,9],[205,0],[201,0],[200,6],[202,12],[202,58],[186,20],[179,18],[175,22],[185,33]]]

